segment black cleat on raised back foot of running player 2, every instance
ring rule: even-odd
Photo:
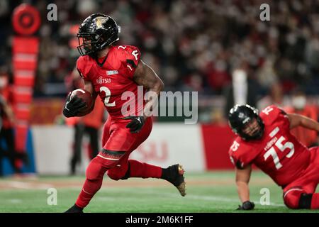
[[[186,195],[186,182],[184,179],[184,169],[181,165],[171,165],[162,171],[162,179],[174,184],[181,196]]]

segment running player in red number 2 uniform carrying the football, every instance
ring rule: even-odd
[[[130,153],[147,139],[152,131],[152,118],[146,110],[155,104],[155,99],[144,101],[138,97],[138,85],[144,90],[159,95],[164,87],[162,80],[150,66],[140,60],[140,50],[132,45],[113,45],[120,27],[110,16],[92,14],[79,26],[78,50],[82,55],[77,60],[77,70],[84,79],[84,89],[95,101],[100,96],[108,111],[108,120],[103,128],[103,149],[86,169],[86,180],[74,206],[67,212],[82,212],[91,198],[101,188],[103,175],[114,180],[129,177],[154,177],[166,179],[174,184],[181,196],[185,196],[184,170],[181,165],[167,168],[128,160]],[[135,99],[122,98],[123,92],[130,92]],[[139,105],[139,104],[143,105]],[[123,105],[135,106],[122,113]],[[132,105],[131,105],[132,104]],[[78,116],[83,109],[89,113],[86,103],[78,96],[67,96],[63,109],[66,117]],[[84,112],[85,112],[84,111]]]

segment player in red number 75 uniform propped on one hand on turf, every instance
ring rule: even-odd
[[[284,203],[291,209],[319,209],[319,148],[306,148],[291,128],[303,126],[319,131],[319,123],[298,114],[286,114],[267,106],[260,114],[249,105],[230,109],[228,121],[234,133],[229,150],[236,169],[237,192],[242,201],[238,209],[254,209],[248,183],[252,164],[284,190]]]

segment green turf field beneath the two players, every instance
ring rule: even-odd
[[[237,212],[239,204],[233,172],[186,172],[186,196],[162,179],[104,178],[102,189],[85,212]],[[74,204],[84,176],[0,179],[0,212],[63,212]],[[57,205],[48,205],[47,189],[57,189]],[[268,188],[270,205],[260,205],[260,190]],[[262,172],[253,172],[250,194],[256,207],[251,212],[317,212],[287,209],[281,189]],[[247,211],[240,211],[247,212]]]

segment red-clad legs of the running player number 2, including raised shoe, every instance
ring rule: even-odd
[[[128,177],[167,179],[179,189],[183,196],[185,195],[184,170],[179,170],[179,165],[162,169],[155,165],[128,160],[130,153],[150,135],[152,119],[147,118],[139,133],[130,133],[129,129],[125,128],[127,123],[128,121],[112,122],[110,119],[106,122],[103,131],[103,149],[89,163],[84,187],[75,203],[77,208],[83,209],[89,204],[91,198],[101,188],[106,171],[111,179],[116,180]]]

